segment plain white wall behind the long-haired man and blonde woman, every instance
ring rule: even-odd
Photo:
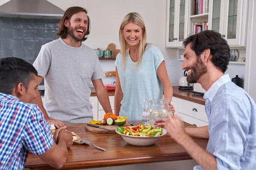
[[[119,27],[122,19],[129,12],[142,15],[146,29],[147,42],[157,45],[163,52],[167,71],[173,85],[178,85],[177,77],[182,75],[180,62],[177,62],[177,49],[165,47],[166,37],[166,0],[48,0],[66,10],[70,6],[82,6],[88,10],[91,19],[91,32],[84,42],[90,48],[119,45]],[[114,71],[114,61],[100,60],[104,71]],[[177,71],[180,68],[180,71]],[[104,81],[104,80],[103,80]]]

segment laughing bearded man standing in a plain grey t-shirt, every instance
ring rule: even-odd
[[[33,64],[38,71],[38,84],[45,78],[44,106],[39,91],[34,101],[45,119],[55,127],[90,122],[93,119],[90,81],[104,111],[112,113],[99,59],[93,49],[81,43],[90,34],[87,10],[78,6],[68,8],[57,34],[60,38],[42,45]]]

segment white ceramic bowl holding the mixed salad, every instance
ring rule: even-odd
[[[134,127],[134,126],[131,126],[131,127]],[[165,129],[163,129],[162,132],[163,132],[163,134],[160,136],[148,137],[148,136],[124,135],[124,134],[116,131],[116,133],[118,133],[119,135],[122,136],[122,139],[124,139],[125,142],[127,142],[128,144],[131,144],[131,145],[135,145],[135,146],[148,146],[148,145],[156,143],[160,139],[161,136],[164,136],[167,133],[167,131]]]

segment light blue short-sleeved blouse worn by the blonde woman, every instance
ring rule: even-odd
[[[148,97],[152,100],[163,98],[163,85],[157,76],[157,68],[163,61],[163,54],[155,45],[147,45],[138,71],[137,62],[131,60],[129,53],[125,70],[121,54],[116,56],[115,65],[123,92],[119,116],[142,120],[144,100]]]

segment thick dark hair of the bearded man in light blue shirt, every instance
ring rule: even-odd
[[[191,35],[183,41],[185,47],[189,44],[190,48],[195,51],[197,57],[205,49],[209,49],[212,54],[212,63],[220,68],[222,73],[225,73],[230,60],[230,47],[227,41],[221,37],[221,34],[212,30],[202,31],[198,34]]]

